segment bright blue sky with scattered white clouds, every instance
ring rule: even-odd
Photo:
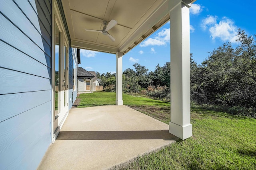
[[[225,42],[235,47],[237,29],[256,34],[256,0],[197,0],[190,8],[190,53],[201,64],[209,52]],[[170,23],[166,23],[140,45],[123,56],[123,71],[139,63],[154,71],[170,62]],[[116,55],[81,50],[80,67],[100,73],[116,72]]]

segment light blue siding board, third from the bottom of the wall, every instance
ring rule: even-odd
[[[0,94],[51,90],[51,80],[0,68]],[[37,96],[40,97],[40,96]]]

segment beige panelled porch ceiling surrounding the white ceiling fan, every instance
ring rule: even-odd
[[[62,0],[71,45],[125,54],[168,22],[170,1],[178,0]],[[116,41],[102,33],[84,30],[102,30],[103,20],[118,22],[108,31]]]

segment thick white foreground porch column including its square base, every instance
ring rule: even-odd
[[[189,2],[189,0],[186,0]],[[171,121],[169,132],[184,140],[192,136],[190,124],[190,21],[184,0],[170,1]]]

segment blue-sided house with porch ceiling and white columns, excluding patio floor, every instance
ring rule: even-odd
[[[169,21],[169,131],[191,137],[189,8],[194,1],[1,1],[0,169],[34,170],[54,143],[76,99],[77,49],[116,55],[116,104],[122,105],[123,55]],[[102,30],[103,20],[118,22],[108,29],[110,35],[84,30]]]

